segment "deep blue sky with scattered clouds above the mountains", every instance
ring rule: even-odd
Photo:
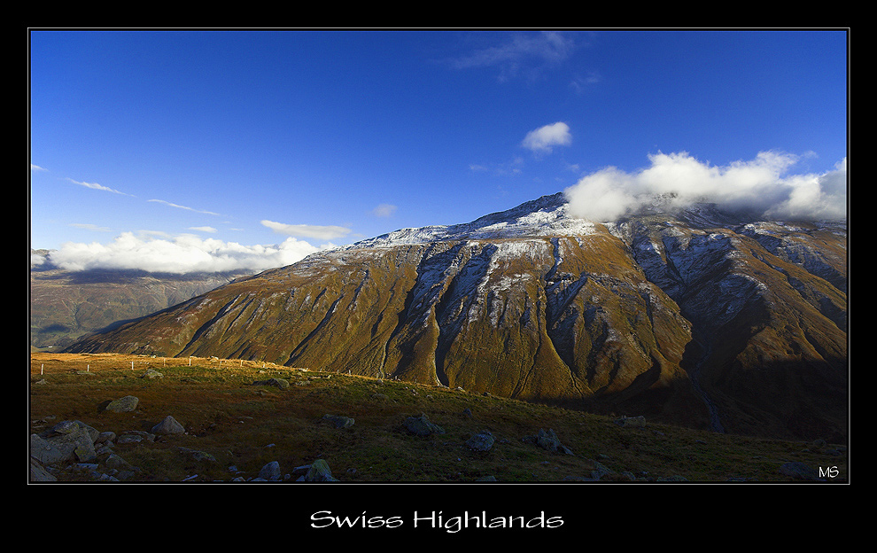
[[[68,269],[261,270],[598,180],[615,193],[662,161],[724,188],[771,152],[772,178],[819,183],[845,176],[847,39],[33,30],[31,246]]]

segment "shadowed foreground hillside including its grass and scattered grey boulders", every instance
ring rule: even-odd
[[[34,378],[28,481],[846,480],[846,448],[825,440],[737,440],[642,416],[304,370],[230,381],[203,368],[135,376],[94,366]],[[116,397],[97,401],[110,390]]]

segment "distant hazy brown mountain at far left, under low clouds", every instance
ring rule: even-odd
[[[251,275],[171,275],[111,269],[67,271],[43,263],[30,270],[30,345],[59,349],[86,334],[155,313],[228,284],[237,277]]]

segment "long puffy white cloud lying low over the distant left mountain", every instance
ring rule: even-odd
[[[141,269],[183,274],[232,270],[260,271],[284,267],[331,247],[317,247],[295,238],[279,245],[241,245],[214,238],[182,235],[174,239],[139,238],[126,232],[110,244],[67,242],[49,254],[60,269]],[[35,263],[31,259],[31,263]]]

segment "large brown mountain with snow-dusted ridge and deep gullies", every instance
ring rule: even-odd
[[[563,193],[225,284],[71,353],[208,356],[718,432],[843,440],[845,223],[710,204],[610,223]]]

